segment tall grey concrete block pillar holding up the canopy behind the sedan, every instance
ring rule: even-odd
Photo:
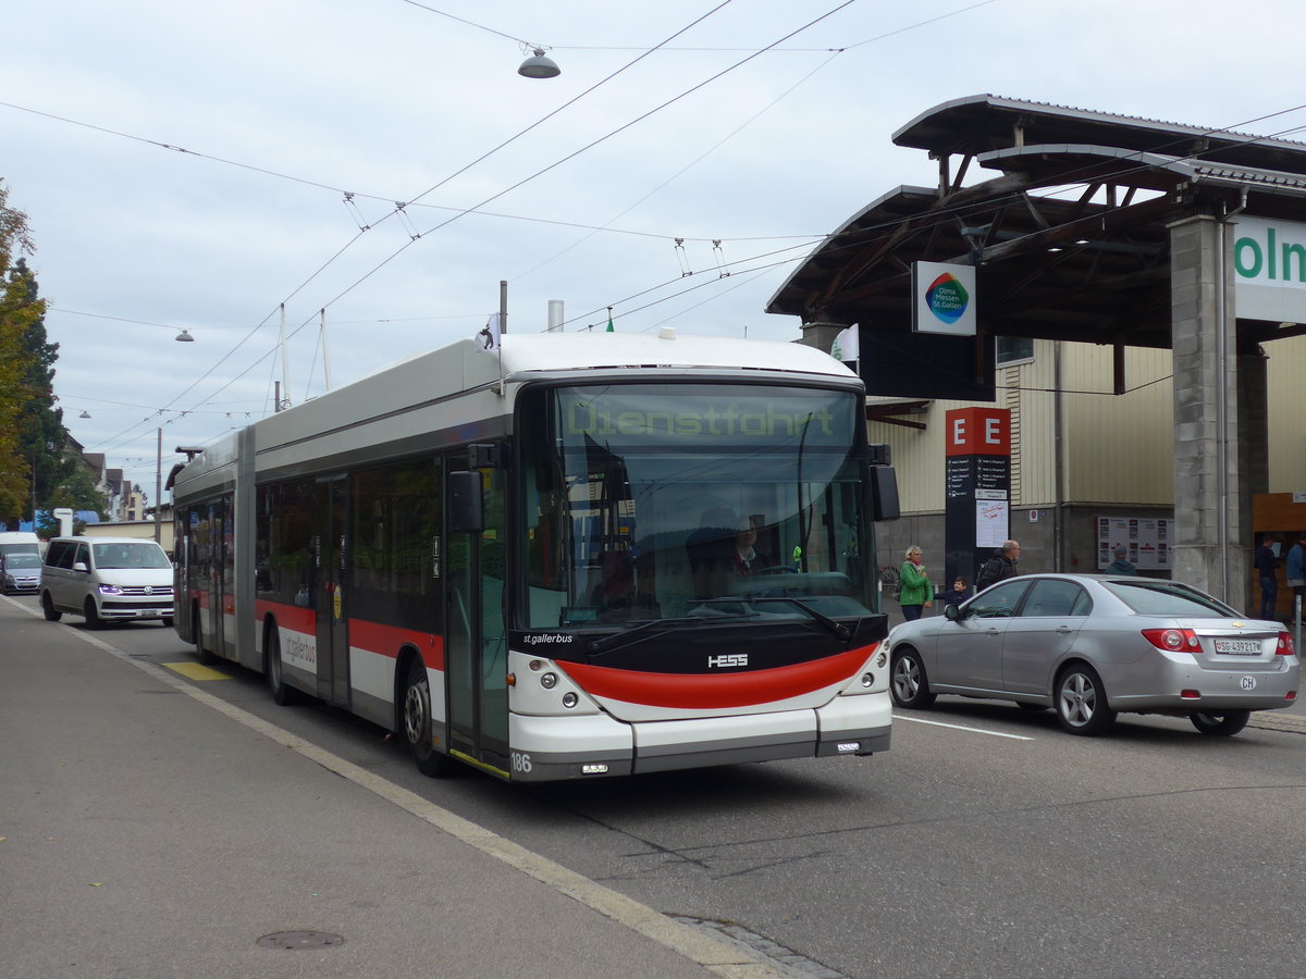
[[[1212,217],[1170,226],[1174,578],[1245,608],[1250,543],[1239,483],[1233,235]]]

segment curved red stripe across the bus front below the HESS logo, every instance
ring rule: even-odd
[[[875,645],[754,672],[645,674],[582,663],[558,663],[558,668],[596,697],[650,707],[712,710],[773,704],[842,683],[862,668]]]

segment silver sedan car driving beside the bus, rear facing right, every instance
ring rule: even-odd
[[[1292,706],[1301,660],[1281,623],[1177,581],[1100,574],[1008,578],[944,615],[893,627],[891,689],[902,707],[940,693],[1054,707],[1071,734],[1121,711],[1187,717],[1234,735],[1252,710]]]

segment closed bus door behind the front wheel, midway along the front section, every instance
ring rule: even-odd
[[[346,583],[346,478],[316,484],[317,526],[317,696],[329,704],[349,704],[349,587]]]

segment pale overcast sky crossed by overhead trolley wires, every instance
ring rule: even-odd
[[[511,332],[560,299],[567,330],[611,305],[619,332],[794,339],[763,308],[795,264],[935,181],[891,142],[921,112],[993,93],[1302,138],[1299,25],[1289,0],[44,0],[4,18],[0,179],[64,420],[153,499],[157,429],[166,474],[274,381],[325,390],[323,309],[333,386],[473,335],[500,279]],[[522,42],[562,76],[520,77]]]

